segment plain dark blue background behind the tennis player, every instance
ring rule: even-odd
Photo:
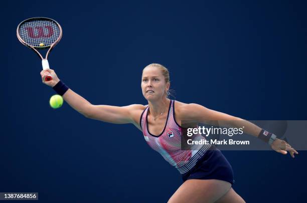
[[[16,38],[31,17],[61,24],[50,66],[93,104],[146,104],[141,70],[161,63],[179,101],[249,120],[306,120],[303,1],[8,2],[1,192],[39,192],[42,202],[166,202],[182,183],[132,125],[89,120],[66,103],[49,107],[55,92],[41,82],[41,61]],[[307,153],[299,153],[223,151],[247,202],[301,201]]]

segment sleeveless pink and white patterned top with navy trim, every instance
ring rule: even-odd
[[[181,138],[183,128],[175,120],[175,100],[170,102],[164,130],[158,136],[148,131],[148,110],[149,106],[146,107],[140,117],[140,127],[147,144],[159,152],[171,165],[175,166],[181,174],[187,173],[195,166],[197,160],[204,155],[211,145],[198,145],[193,146],[193,150],[182,150]],[[205,139],[201,135],[196,137],[198,139]]]

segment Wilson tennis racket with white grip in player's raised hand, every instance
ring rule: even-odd
[[[42,59],[43,70],[46,70],[49,69],[48,55],[62,38],[62,28],[55,20],[49,18],[31,18],[18,25],[17,38]],[[43,58],[39,50],[48,48],[46,57]],[[45,81],[50,80],[51,75],[45,77]]]

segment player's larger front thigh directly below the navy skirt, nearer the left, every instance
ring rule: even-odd
[[[223,180],[189,179],[176,190],[168,203],[214,202],[230,188],[231,184]]]

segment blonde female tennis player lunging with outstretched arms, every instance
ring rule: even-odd
[[[45,81],[44,78],[49,74],[53,80]],[[92,105],[60,81],[53,70],[42,71],[41,77],[44,84],[53,87],[72,108],[85,117],[109,123],[132,123],[141,130],[149,146],[182,174],[184,182],[171,196],[169,203],[245,202],[232,188],[233,171],[219,149],[210,144],[204,144],[197,150],[181,149],[183,120],[244,120],[198,104],[185,104],[169,99],[170,76],[164,66],[150,64],[142,71],[141,89],[148,101],[145,106]],[[289,151],[292,157],[294,153],[297,154],[288,143],[248,121],[244,132],[266,141],[279,153],[287,154]]]

